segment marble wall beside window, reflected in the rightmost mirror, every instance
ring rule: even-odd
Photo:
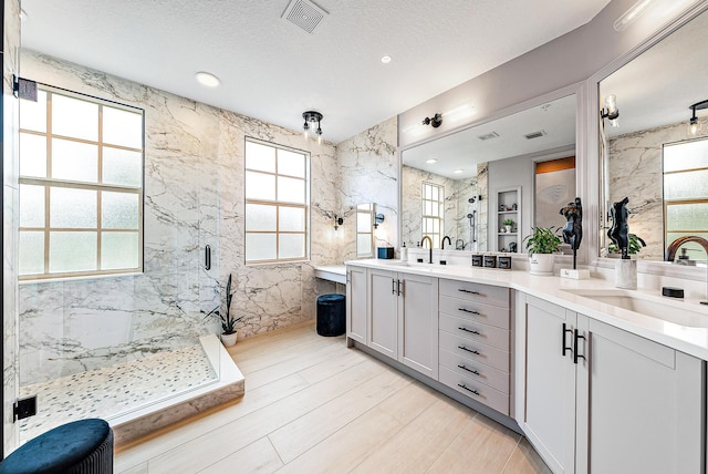
[[[708,136],[708,118],[700,120]],[[629,231],[646,241],[637,258],[664,259],[664,176],[662,152],[665,143],[686,140],[686,122],[620,135],[608,140],[610,202],[629,198]]]

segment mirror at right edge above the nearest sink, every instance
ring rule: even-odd
[[[605,111],[614,96],[620,112],[616,126],[600,120],[603,227],[612,224],[608,206],[626,196],[629,233],[641,238],[634,258],[706,260],[708,12],[603,79],[598,96]],[[681,237],[691,238],[669,251]],[[600,239],[601,256],[612,257],[606,230]]]

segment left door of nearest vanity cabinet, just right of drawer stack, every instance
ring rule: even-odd
[[[521,429],[554,473],[571,473],[575,464],[575,364],[572,336],[576,316],[525,296],[518,307],[518,338],[523,340],[525,374]],[[518,365],[523,370],[524,364]]]

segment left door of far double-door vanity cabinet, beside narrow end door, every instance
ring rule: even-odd
[[[398,284],[394,271],[368,270],[369,348],[396,359],[398,354]]]

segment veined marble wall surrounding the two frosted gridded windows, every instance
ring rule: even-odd
[[[337,259],[330,223],[316,210],[335,206],[339,172],[331,144],[31,51],[22,54],[22,75],[146,111],[145,271],[22,284],[23,383],[216,331],[201,311],[218,301],[217,282],[223,287],[229,272],[231,310],[246,316],[240,337],[313,317],[320,284],[312,265]],[[243,264],[246,136],[311,152],[311,262]],[[201,265],[207,244],[216,250],[211,271]]]

